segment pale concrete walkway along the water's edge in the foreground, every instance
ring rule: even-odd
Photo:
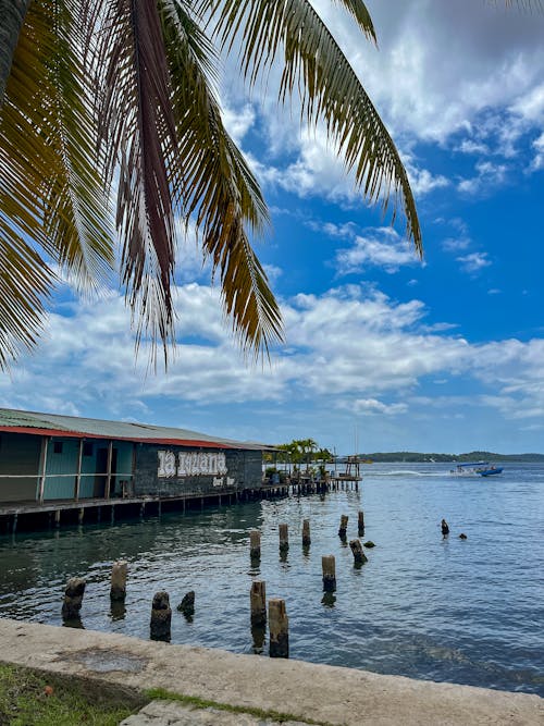
[[[302,724],[544,724],[544,699],[537,696],[381,676],[351,668],[238,655],[10,619],[0,619],[0,660],[63,676],[101,680],[110,687],[164,688],[231,706],[289,714],[293,721]],[[161,716],[160,710],[170,705],[153,702],[146,706],[147,714],[145,709],[133,716],[147,721],[128,719],[126,723],[131,726],[246,726],[246,723],[248,726],[269,726],[274,723],[273,717],[267,722],[267,714],[260,719],[244,722],[240,713],[207,712],[203,709],[190,713],[187,707]],[[234,719],[228,721],[230,716]],[[184,717],[189,721],[183,721]]]

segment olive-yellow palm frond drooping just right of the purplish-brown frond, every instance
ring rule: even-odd
[[[164,35],[174,87],[180,153],[185,160],[184,206],[196,214],[205,254],[221,279],[225,312],[244,349],[268,352],[282,339],[281,313],[249,242],[269,223],[259,185],[226,133],[201,48],[209,41],[186,9],[165,3]],[[212,78],[214,75],[212,74]]]

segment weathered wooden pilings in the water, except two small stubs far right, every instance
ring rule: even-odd
[[[364,514],[358,513],[358,534],[364,534]],[[348,516],[342,515],[338,527],[338,538],[345,545],[347,543]],[[359,568],[368,557],[364,547],[373,547],[374,543],[367,541],[363,544],[359,538],[349,540],[349,547],[354,556],[354,567]],[[302,521],[301,545],[307,552],[311,545],[310,520]],[[288,526],[279,525],[279,549],[285,554],[289,549]],[[249,556],[252,566],[257,566],[261,558],[261,532],[251,530],[249,533]],[[115,606],[124,606],[126,598],[128,564],[125,561],[115,562],[111,570],[110,599],[112,610]],[[333,554],[322,555],[321,577],[323,587],[323,602],[336,591],[336,558]],[[65,625],[83,627],[81,623],[81,608],[85,594],[86,580],[81,577],[71,578],[65,587],[62,604],[62,619]],[[187,620],[191,620],[195,613],[195,592],[189,591],[183,598],[176,608],[183,613]],[[287,607],[284,599],[271,598],[267,602],[267,586],[263,580],[254,580],[249,592],[249,623],[254,645],[260,650],[265,638],[265,628],[269,631],[270,657],[289,656],[289,629]],[[172,607],[170,595],[165,591],[154,593],[150,608],[149,637],[151,640],[170,642],[172,635]]]

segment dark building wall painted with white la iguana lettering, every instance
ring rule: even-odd
[[[259,451],[138,444],[134,494],[173,496],[257,488],[261,467]]]

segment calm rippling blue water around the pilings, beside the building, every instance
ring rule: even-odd
[[[249,589],[264,579],[286,600],[292,657],[544,696],[544,467],[459,479],[447,465],[371,465],[359,493],[163,515],[144,522],[0,539],[0,615],[61,624],[63,586],[87,579],[86,628],[149,637],[153,592],[166,590],[172,641],[255,652]],[[337,537],[366,518],[369,562],[353,566]],[[442,517],[450,534],[443,540]],[[300,545],[310,519],[312,544]],[[290,549],[279,553],[277,525]],[[262,531],[259,568],[249,530]],[[465,532],[467,540],[458,534]],[[323,602],[321,555],[336,556],[337,592]],[[112,562],[129,563],[126,611],[112,613]],[[188,623],[175,605],[196,591]],[[257,649],[258,650],[258,649]],[[263,653],[268,652],[264,643]]]

